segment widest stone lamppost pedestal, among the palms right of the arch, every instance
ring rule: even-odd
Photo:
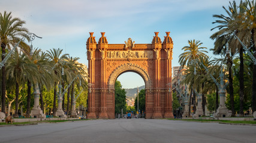
[[[213,117],[231,117],[232,111],[225,106],[225,92],[219,90],[219,107]]]

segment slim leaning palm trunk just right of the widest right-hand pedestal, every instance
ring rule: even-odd
[[[229,81],[229,88],[230,88],[230,105],[231,105],[231,111],[232,115],[231,117],[235,117],[236,113],[234,112],[234,88],[233,88],[233,74],[232,74],[232,64],[233,61],[230,58],[230,55],[227,55],[228,57],[228,81]]]

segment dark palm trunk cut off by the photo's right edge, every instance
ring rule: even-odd
[[[252,43],[255,43],[255,29],[252,29]],[[256,45],[252,48],[254,51],[254,58],[256,58]],[[252,111],[256,111],[256,65],[253,64],[252,69]]]

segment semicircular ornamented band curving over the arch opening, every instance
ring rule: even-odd
[[[112,71],[108,80],[109,89],[115,89],[116,79],[121,73],[124,73],[125,71],[135,71],[136,73],[140,74],[140,76],[143,78],[145,82],[145,88],[151,88],[151,80],[147,71],[144,70],[141,66],[138,66],[137,64],[128,63],[122,64],[121,66],[117,67],[114,71]]]

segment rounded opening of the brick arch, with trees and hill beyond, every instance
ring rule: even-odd
[[[122,87],[120,87],[122,86]],[[139,92],[139,97],[137,93]],[[125,97],[124,97],[125,94]],[[137,100],[138,97],[138,100]],[[127,70],[118,75],[115,80],[115,115],[116,118],[144,117],[146,110],[146,92],[143,77],[136,71]],[[139,103],[139,104],[138,104]],[[123,110],[122,110],[123,109]]]

